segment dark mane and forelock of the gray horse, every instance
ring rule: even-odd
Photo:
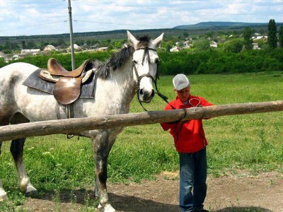
[[[138,48],[147,47],[150,42],[150,38],[147,35],[138,37],[137,40],[139,40],[139,44],[137,45]],[[119,52],[113,54],[112,57],[105,63],[98,60],[93,61],[93,68],[98,70],[99,78],[108,78],[111,71],[119,69],[125,63],[125,61],[132,57],[132,54],[134,54],[134,47],[123,47]]]

